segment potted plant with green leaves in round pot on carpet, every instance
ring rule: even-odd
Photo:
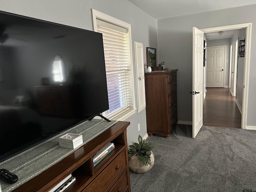
[[[139,135],[138,142],[132,142],[128,146],[129,168],[136,173],[148,172],[154,165],[154,154],[152,150],[156,147],[150,142],[142,140]]]

